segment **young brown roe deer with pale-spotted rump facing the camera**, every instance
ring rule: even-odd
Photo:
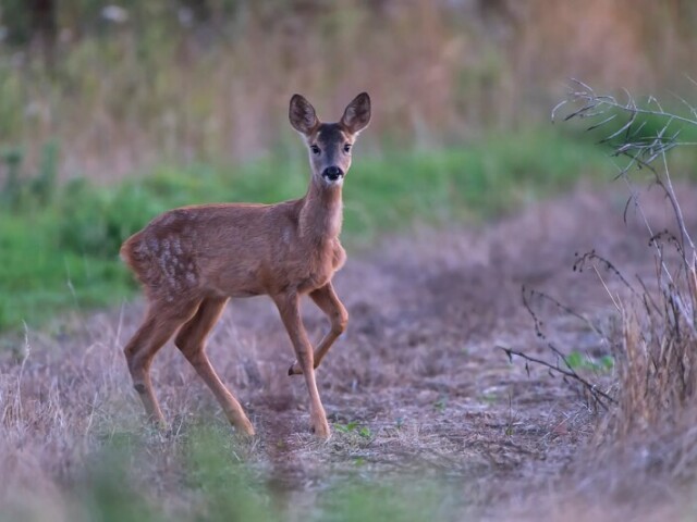
[[[174,344],[246,435],[254,427],[222,384],[205,351],[208,333],[231,297],[268,295],[295,350],[289,375],[303,374],[315,434],[330,435],[315,382],[315,369],[346,327],[348,314],[331,284],[346,253],[339,243],[341,189],[351,148],[370,121],[370,98],[358,95],[339,123],[320,123],[302,96],[291,98],[291,125],[309,149],[307,194],[277,204],[220,203],[184,207],[156,217],[121,247],[148,300],[145,320],[124,351],[133,385],[151,421],[164,424],[152,391],[152,358],[179,328]],[[308,294],[329,316],[331,330],[317,349],[301,320],[299,298]]]

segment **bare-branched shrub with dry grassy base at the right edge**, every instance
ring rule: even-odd
[[[676,147],[697,145],[681,138],[685,127],[697,127],[697,108],[681,98],[687,112],[681,115],[663,109],[653,97],[639,103],[629,92],[624,96],[625,101],[620,101],[573,80],[567,99],[552,111],[552,120],[568,110],[564,121],[588,119],[589,130],[612,127],[601,144],[609,145],[614,157],[626,160],[617,164],[617,178],[631,194],[625,220],[627,209],[634,208],[646,226],[655,257],[655,278],[647,282],[637,276],[632,284],[607,262],[631,290],[627,299],[613,298],[623,327],[616,353],[617,408],[607,424],[609,431],[602,434],[610,440],[659,433],[667,425],[686,422],[695,413],[697,395],[697,252],[667,159]],[[652,185],[665,195],[674,217],[673,231],[656,231],[647,219],[632,177],[637,169],[648,170]],[[591,259],[584,257],[579,266]]]

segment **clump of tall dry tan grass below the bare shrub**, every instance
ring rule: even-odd
[[[597,457],[629,471],[599,481],[613,495],[677,498],[697,478],[695,258],[694,251],[690,257],[669,251],[667,238],[676,234],[673,227],[657,239],[653,279],[639,282],[634,296],[617,299],[619,405],[596,433]]]

